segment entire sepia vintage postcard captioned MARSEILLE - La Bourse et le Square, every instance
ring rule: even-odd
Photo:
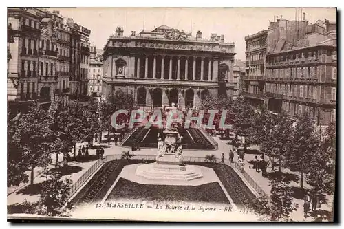
[[[336,221],[336,8],[7,12],[8,221]]]

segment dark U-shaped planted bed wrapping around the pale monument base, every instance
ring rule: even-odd
[[[150,163],[153,161],[145,161]],[[72,203],[92,203],[101,201],[122,168],[127,164],[142,163],[142,160],[114,160],[106,162],[103,167],[92,177],[89,183],[80,190]],[[233,202],[238,207],[249,208],[256,199],[255,195],[244,184],[233,168],[225,164],[186,162],[186,164],[196,164],[213,168],[219,180],[226,188]],[[211,193],[211,195],[210,195]],[[204,201],[215,203],[228,203],[226,195],[217,182],[204,184],[202,186],[164,186],[136,184],[120,178],[114,190],[111,191],[108,199],[128,198],[147,199],[161,201]]]

